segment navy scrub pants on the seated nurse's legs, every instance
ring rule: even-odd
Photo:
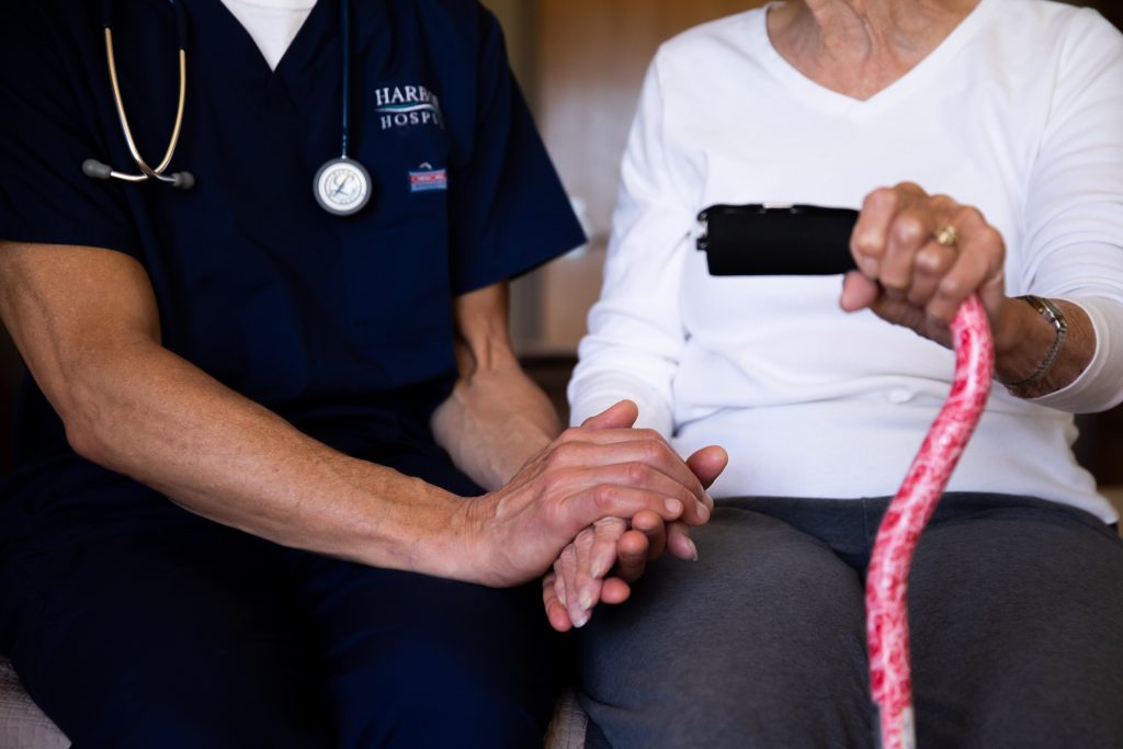
[[[52,526],[0,564],[0,646],[76,749],[541,746],[537,586],[327,559],[162,501]]]

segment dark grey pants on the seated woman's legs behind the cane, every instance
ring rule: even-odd
[[[587,747],[875,746],[864,570],[887,500],[719,502],[579,636]],[[1123,542],[1040,500],[949,494],[912,567],[917,745],[1123,748]]]

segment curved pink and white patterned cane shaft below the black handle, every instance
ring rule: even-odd
[[[994,350],[986,311],[977,296],[960,308],[951,334],[956,347],[951,394],[889,503],[866,578],[869,681],[878,706],[882,749],[915,746],[905,604],[909,566],[990,393]]]

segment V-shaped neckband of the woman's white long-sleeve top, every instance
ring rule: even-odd
[[[933,75],[939,75],[943,66],[955,58],[990,17],[995,0],[979,0],[967,18],[960,21],[935,49],[904,75],[866,100],[828,89],[804,75],[779,54],[768,34],[768,12],[777,4],[780,3],[770,2],[765,6],[759,13],[756,13],[754,22],[749,26],[749,42],[754,48],[764,51],[764,65],[791,94],[805,104],[829,115],[865,120],[907,99],[919,88],[925,86]]]

